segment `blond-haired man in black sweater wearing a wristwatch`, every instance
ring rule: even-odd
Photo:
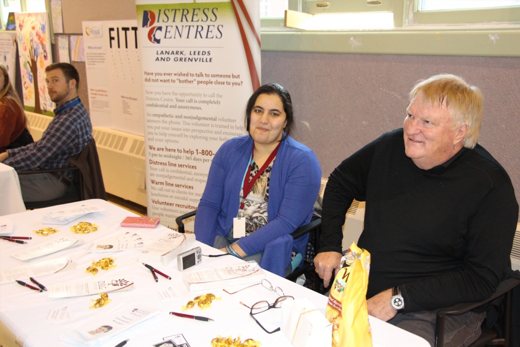
[[[458,76],[420,81],[403,128],[343,161],[323,198],[315,266],[328,286],[353,199],[366,201],[358,246],[371,254],[370,315],[434,346],[436,312],[487,299],[510,268],[518,203],[511,179],[477,144],[482,94]],[[467,346],[485,313],[448,316],[445,346]]]

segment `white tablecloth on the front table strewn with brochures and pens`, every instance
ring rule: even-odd
[[[40,280],[43,285],[49,287],[50,285],[59,282],[72,282],[85,278],[94,279],[109,275],[129,275],[133,277],[136,289],[128,292],[110,294],[112,303],[108,304],[106,307],[102,307],[101,309],[91,310],[88,308],[88,306],[92,304],[90,299],[96,298],[98,295],[95,297],[47,300],[46,292],[40,293],[32,291],[18,285],[16,282],[2,285],[0,287],[0,320],[19,339],[24,341],[25,347],[68,346],[68,344],[59,341],[58,337],[60,335],[86,323],[88,320],[93,319],[96,315],[102,313],[103,310],[108,309],[109,307],[130,302],[138,302],[142,305],[157,307],[161,310],[161,313],[158,316],[145,320],[145,322],[114,336],[103,344],[103,347],[113,347],[125,339],[130,339],[126,344],[127,347],[151,347],[153,344],[161,342],[164,337],[176,335],[178,333],[182,333],[192,347],[209,347],[211,346],[211,339],[217,335],[224,337],[237,337],[240,335],[242,340],[252,338],[261,341],[262,346],[264,347],[291,346],[289,340],[283,335],[283,332],[279,331],[269,335],[262,330],[262,328],[259,327],[249,316],[249,309],[239,303],[242,301],[251,305],[260,300],[274,302],[277,297],[276,294],[268,291],[262,286],[249,288],[233,295],[225,293],[222,289],[189,292],[182,281],[182,273],[178,272],[176,269],[176,261],[167,266],[155,266],[162,272],[172,276],[172,280],[167,280],[162,276],[158,276],[159,282],[156,283],[153,280],[150,271],[138,262],[137,252],[135,251],[86,253],[86,244],[88,242],[93,242],[107,237],[109,234],[120,233],[123,230],[136,230],[136,232],[147,234],[149,236],[163,235],[168,230],[163,226],[156,229],[121,228],[119,223],[124,219],[124,217],[133,215],[132,213],[103,200],[89,200],[89,202],[101,205],[106,209],[106,211],[87,215],[86,217],[71,222],[67,226],[54,226],[60,230],[60,232],[55,235],[61,234],[63,236],[70,236],[71,233],[69,227],[80,221],[96,223],[99,225],[99,230],[92,234],[76,235],[77,238],[81,238],[85,241],[84,245],[70,250],[63,250],[35,260],[54,259],[59,256],[68,255],[71,256],[79,266],[71,271],[41,276],[37,279]],[[74,205],[74,203],[69,205]],[[31,244],[34,245],[36,242],[44,240],[45,237],[36,235],[32,230],[48,226],[41,224],[42,216],[48,211],[57,209],[57,207],[51,207],[9,216],[16,225],[16,235],[32,236],[33,239],[29,240],[29,245],[1,242],[0,266],[2,268],[10,268],[23,264],[23,262],[12,258],[10,254],[20,251],[23,247],[28,247]],[[201,246],[202,254],[217,254],[219,252],[198,241],[196,241],[196,245]],[[115,264],[117,267],[110,269],[107,272],[100,271],[96,277],[85,272],[86,267],[89,266],[93,260],[97,261],[105,256],[114,256],[116,258]],[[231,255],[220,258],[203,257],[202,264],[197,267],[213,267],[237,262],[242,261],[233,258]],[[302,286],[298,286],[293,282],[271,273],[267,273],[266,278],[273,286],[280,287],[284,291],[285,295],[292,295],[295,299],[308,298],[324,314],[327,305],[327,297]],[[173,288],[178,299],[161,302],[156,292],[168,287]],[[242,287],[245,286],[235,286],[231,287],[231,289],[238,290]],[[170,311],[181,312],[181,306],[186,305],[189,300],[192,300],[197,295],[210,292],[217,295],[217,297],[222,297],[222,300],[214,301],[210,309],[201,311],[197,307],[196,309],[188,310],[186,313],[210,317],[215,319],[215,322],[201,322],[168,314]],[[64,306],[67,306],[70,310],[72,316],[71,320],[59,323],[43,322],[51,307]],[[382,322],[379,319],[370,317],[370,323],[372,325],[374,346],[376,347],[429,346],[429,344],[422,338]]]

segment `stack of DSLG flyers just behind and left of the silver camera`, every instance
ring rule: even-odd
[[[168,232],[139,252],[139,262],[147,264],[170,264],[177,256],[195,242],[194,234]]]

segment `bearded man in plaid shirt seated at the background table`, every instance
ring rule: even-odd
[[[73,167],[67,163],[92,140],[92,123],[77,88],[80,76],[68,63],[54,63],[46,69],[47,91],[56,102],[54,119],[36,142],[0,153],[0,162],[15,170]],[[64,196],[72,184],[73,172],[19,175],[23,201],[46,201]]]

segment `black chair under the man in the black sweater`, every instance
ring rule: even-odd
[[[484,346],[510,346],[510,337],[511,337],[511,313],[512,313],[512,301],[511,294],[513,289],[520,285],[520,279],[518,278],[508,278],[502,281],[497,287],[497,291],[491,295],[486,300],[482,300],[479,302],[470,302],[470,303],[462,303],[456,304],[447,309],[441,309],[437,312],[436,322],[435,322],[435,347],[443,347],[444,346],[444,326],[446,316],[448,315],[460,315],[466,312],[469,312],[476,307],[485,305],[487,303],[494,304],[496,300],[500,302],[500,300],[504,300],[504,313],[502,317],[502,336],[498,336],[498,332],[491,328],[488,328],[487,325],[482,324],[482,334],[480,337],[473,342],[470,347],[484,347]]]

